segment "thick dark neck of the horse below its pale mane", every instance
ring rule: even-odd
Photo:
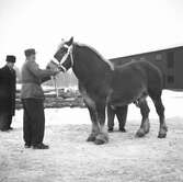
[[[73,72],[81,82],[98,83],[108,79],[111,67],[100,58],[100,56],[88,47],[75,47],[73,53]]]

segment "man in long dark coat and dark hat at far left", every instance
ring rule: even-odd
[[[12,116],[15,111],[14,62],[15,56],[7,56],[7,65],[0,69],[0,130],[2,132],[12,129]]]

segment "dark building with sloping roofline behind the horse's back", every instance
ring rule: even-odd
[[[110,59],[116,65],[130,60],[147,60],[163,72],[164,89],[183,89],[183,46]]]

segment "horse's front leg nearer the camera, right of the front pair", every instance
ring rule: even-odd
[[[100,133],[96,136],[95,144],[102,145],[108,141],[108,135],[105,130],[105,104],[96,104],[98,122],[100,124]]]

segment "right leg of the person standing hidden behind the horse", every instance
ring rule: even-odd
[[[125,124],[126,124],[127,112],[128,112],[128,105],[116,107],[115,113],[116,113],[116,116],[118,120],[118,125],[119,125],[121,132],[126,132]]]

